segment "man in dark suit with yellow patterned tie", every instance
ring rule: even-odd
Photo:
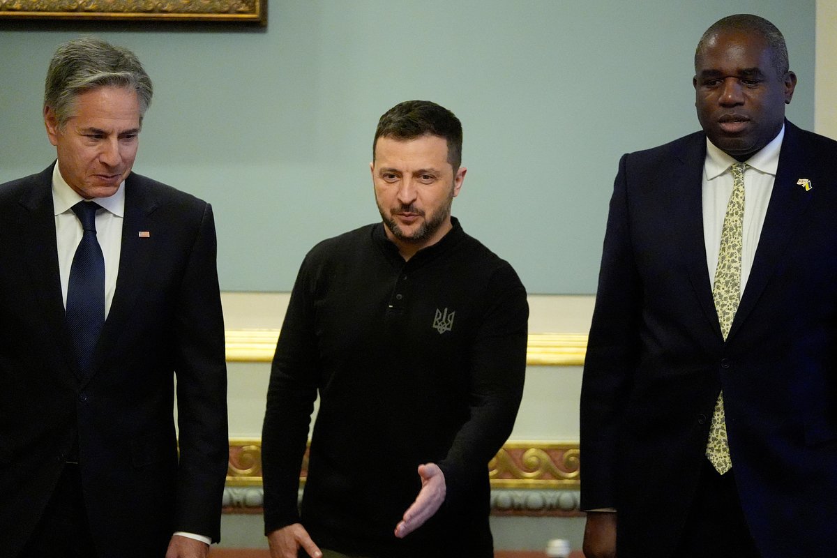
[[[622,157],[581,402],[589,558],[834,555],[837,142],[782,34],[723,18],[703,131]]]

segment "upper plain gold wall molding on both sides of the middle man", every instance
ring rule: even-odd
[[[227,361],[270,362],[279,330],[227,330]],[[526,346],[528,366],[582,366],[587,335],[532,333]]]

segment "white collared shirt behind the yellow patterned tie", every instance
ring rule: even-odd
[[[784,138],[784,125],[773,141],[747,159],[744,171],[744,223],[741,258],[741,290],[747,284],[756,257],[758,239],[762,236],[764,218],[768,212],[770,194],[776,179],[779,151]],[[721,250],[721,229],[727,214],[727,203],[732,195],[732,171],[737,163],[732,156],[718,149],[706,138],[706,161],[703,164],[703,239],[706,245],[706,267],[709,280],[715,283],[715,269]]]

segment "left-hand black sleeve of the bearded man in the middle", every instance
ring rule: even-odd
[[[318,376],[310,260],[296,277],[270,371],[262,428],[265,535],[300,520],[300,468]]]

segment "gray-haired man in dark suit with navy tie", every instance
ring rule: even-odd
[[[61,45],[44,96],[58,161],[0,186],[4,557],[185,558],[219,538],[213,214],[131,174],[150,101],[127,49]]]

